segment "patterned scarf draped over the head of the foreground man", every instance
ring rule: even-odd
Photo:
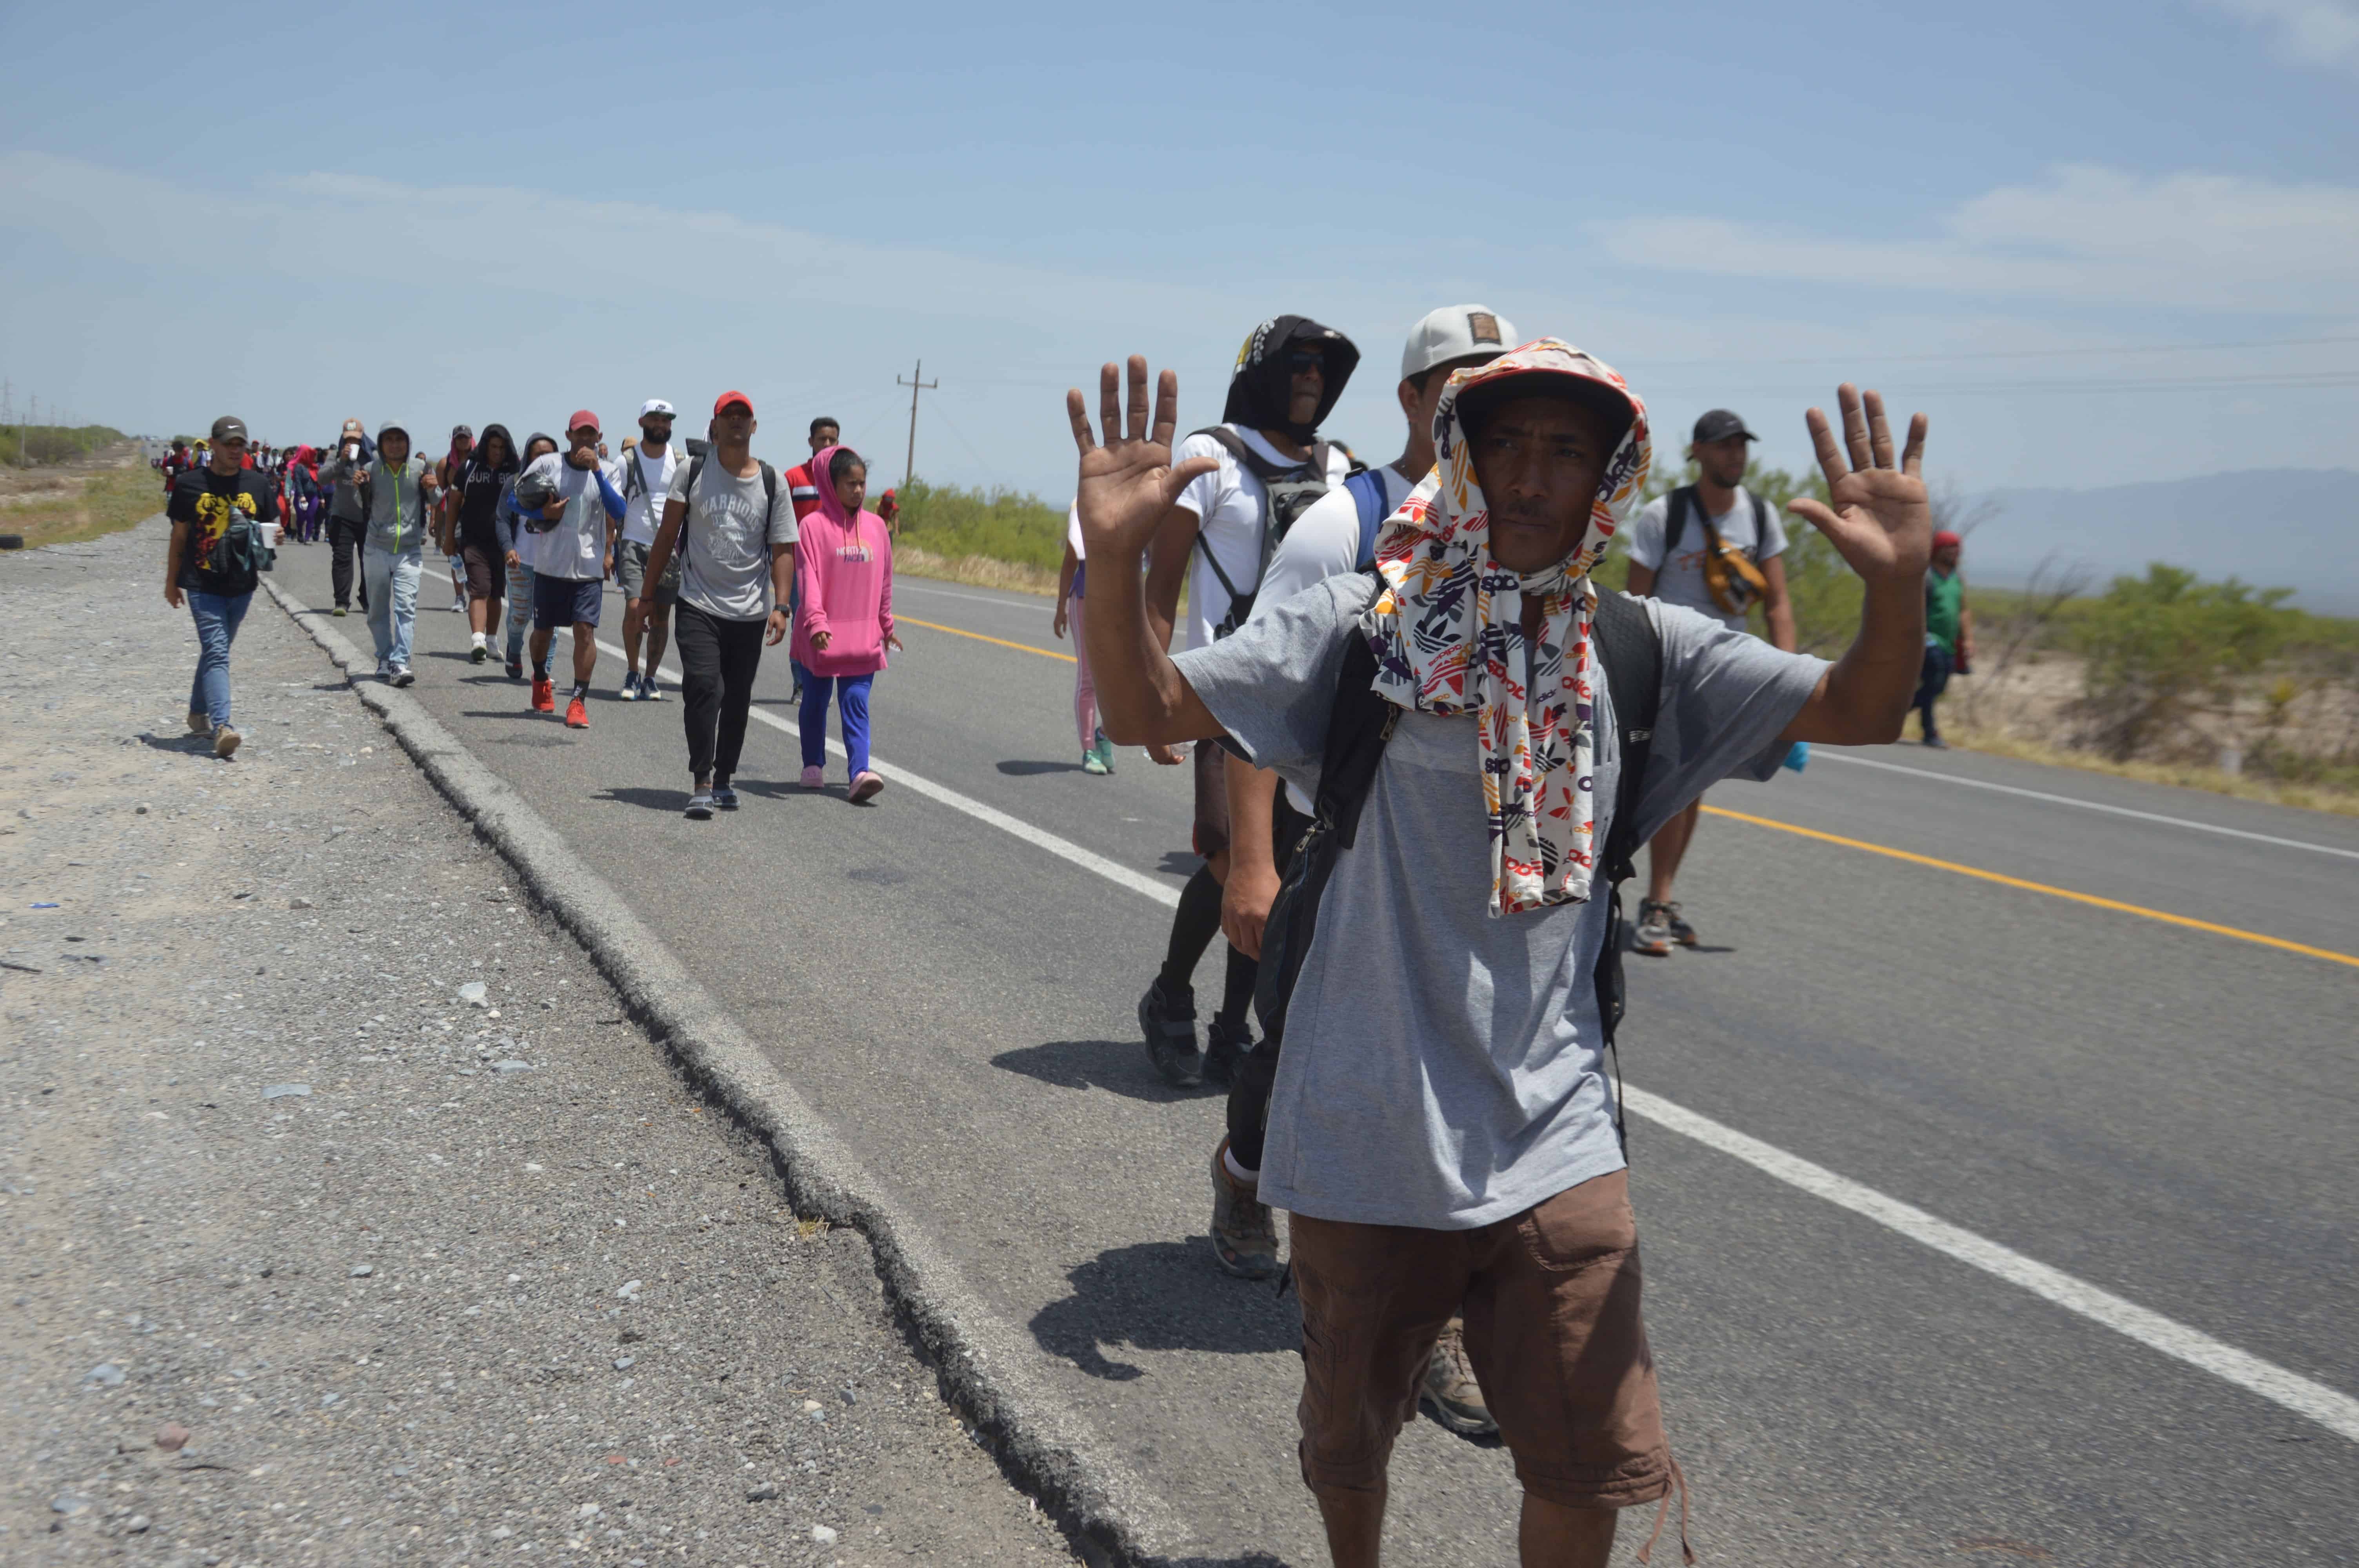
[[[1458,410],[1467,391],[1526,375],[1576,377],[1621,396],[1630,429],[1606,457],[1590,526],[1571,554],[1545,571],[1514,573],[1491,561],[1491,512]],[[1597,868],[1590,568],[1647,486],[1647,406],[1609,365],[1540,337],[1451,375],[1434,408],[1434,472],[1375,540],[1385,587],[1361,622],[1375,651],[1375,693],[1418,712],[1474,714],[1491,818],[1491,915],[1581,903]],[[1543,611],[1529,648],[1526,594],[1538,594]]]

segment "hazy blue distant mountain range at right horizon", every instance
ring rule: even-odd
[[[2291,587],[2321,615],[2359,615],[2359,474],[2246,469],[2104,490],[1989,490],[1998,509],[1965,542],[1965,575],[2022,587],[2041,561],[2081,566],[2090,592],[2147,561]]]

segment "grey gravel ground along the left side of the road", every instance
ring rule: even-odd
[[[1073,1561],[267,597],[184,733],[160,559],[0,559],[0,1561]]]

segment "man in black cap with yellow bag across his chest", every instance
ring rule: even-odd
[[[1630,521],[1630,592],[1687,606],[1732,632],[1743,632],[1746,611],[1760,604],[1769,641],[1793,653],[1793,601],[1786,597],[1786,561],[1779,559],[1786,554],[1786,528],[1779,509],[1743,486],[1753,441],[1757,436],[1727,408],[1696,420],[1687,448],[1696,483],[1647,502]],[[1696,927],[1670,891],[1701,821],[1698,795],[1649,842],[1632,953],[1665,957],[1673,943],[1696,946]]]

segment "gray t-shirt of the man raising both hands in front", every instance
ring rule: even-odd
[[[1375,597],[1328,578],[1175,663],[1253,762],[1312,797],[1345,639]],[[1651,835],[1720,778],[1767,780],[1826,660],[1642,601],[1663,703],[1640,792]],[[1597,835],[1621,778],[1599,693]],[[1335,861],[1288,1007],[1262,1203],[1359,1224],[1465,1231],[1621,1170],[1592,969],[1604,887],[1493,917],[1474,719],[1404,712]]]

